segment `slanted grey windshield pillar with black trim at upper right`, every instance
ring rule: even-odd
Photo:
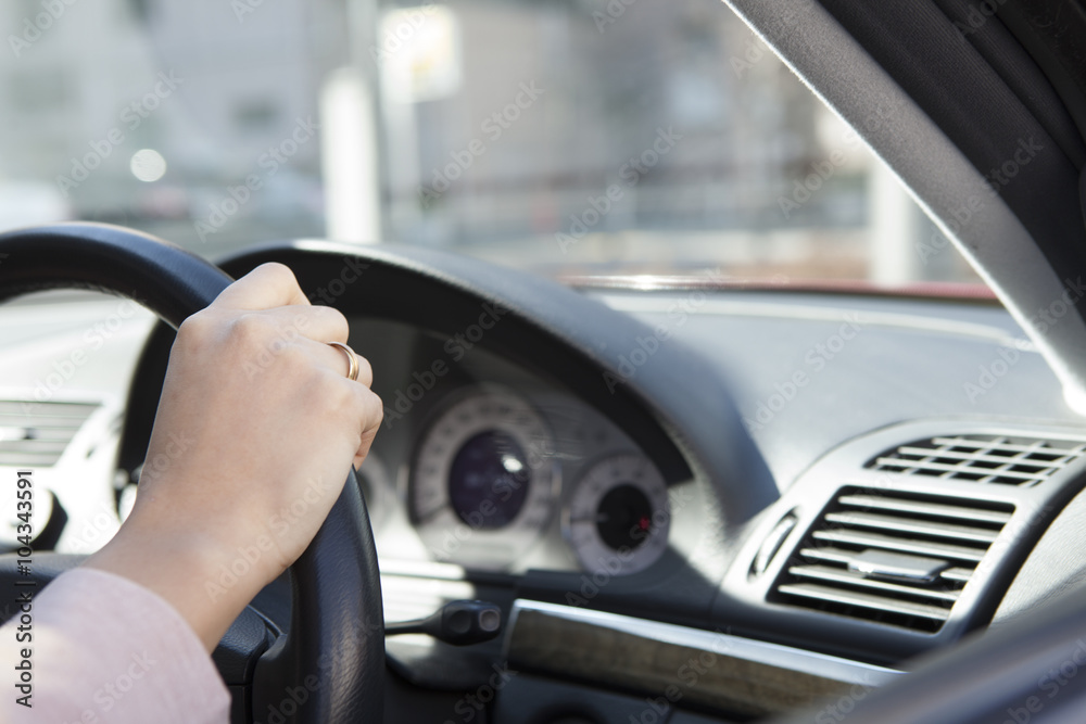
[[[893,169],[1086,414],[1082,0],[725,2]]]

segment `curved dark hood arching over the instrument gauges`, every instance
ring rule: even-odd
[[[669,482],[693,477],[711,484],[723,524],[740,525],[778,498],[772,473],[716,366],[597,300],[527,272],[394,244],[272,243],[220,266],[238,277],[265,262],[290,266],[306,290],[328,282],[329,262],[357,266],[362,283],[346,285],[339,300],[440,334],[463,331],[485,305],[500,305],[503,321],[480,346],[555,376],[654,450]],[[641,357],[639,350],[645,351]],[[644,361],[634,369],[630,358]]]

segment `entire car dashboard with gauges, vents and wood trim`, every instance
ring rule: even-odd
[[[314,287],[342,254],[303,243],[227,267],[276,258]],[[430,721],[426,702],[447,712],[501,665],[522,673],[494,721],[624,722],[659,691],[670,722],[787,711],[1086,579],[1086,430],[989,301],[570,290],[397,254],[367,252],[367,283],[337,300],[386,406],[358,471],[386,615],[482,598],[505,632],[389,639],[388,721]],[[155,465],[168,328],[131,315],[70,380],[41,371],[89,350],[111,305],[0,315],[0,411],[22,431],[0,454],[40,466],[60,551],[108,539]],[[289,625],[287,585],[254,601],[268,625]]]

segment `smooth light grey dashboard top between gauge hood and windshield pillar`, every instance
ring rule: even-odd
[[[846,440],[910,419],[1086,428],[998,306],[748,291],[598,296],[719,365],[782,490]],[[805,383],[793,388],[797,373]]]

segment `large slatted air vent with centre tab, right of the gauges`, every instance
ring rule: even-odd
[[[843,488],[773,589],[782,604],[936,632],[1014,507]]]

